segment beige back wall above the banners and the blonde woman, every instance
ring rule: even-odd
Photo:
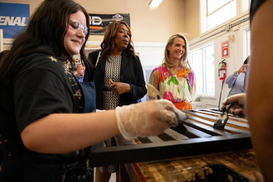
[[[119,0],[119,3],[112,0],[75,1],[85,7],[88,13],[130,13],[134,42],[167,42],[172,34],[185,32],[185,0],[163,0],[155,11],[147,9],[150,0]],[[32,14],[42,0],[0,0],[0,2],[29,4]],[[102,38],[103,36],[93,35],[89,40],[101,41]]]

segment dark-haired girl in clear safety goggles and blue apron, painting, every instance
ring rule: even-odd
[[[94,85],[78,82],[66,67],[68,61],[75,67],[78,54],[90,66],[84,55],[88,35],[82,6],[45,0],[1,58],[0,141],[8,152],[1,182],[92,181],[91,145],[119,133],[127,140],[159,135],[177,123],[165,100],[94,113]]]

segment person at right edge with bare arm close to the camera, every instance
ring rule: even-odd
[[[248,69],[246,94],[228,97],[224,106],[235,102],[246,105],[244,110],[236,104],[231,111],[245,113],[251,130],[251,141],[257,154],[262,175],[257,173],[257,181],[273,179],[273,0],[252,0],[250,9],[251,57]]]

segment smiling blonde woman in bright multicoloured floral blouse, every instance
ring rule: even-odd
[[[162,98],[170,100],[180,110],[193,109],[191,102],[196,97],[195,74],[188,53],[185,35],[174,34],[166,44],[162,65],[155,68],[149,78]]]

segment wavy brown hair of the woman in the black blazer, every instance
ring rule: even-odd
[[[130,32],[129,44],[127,45],[126,49],[124,49],[123,51],[125,51],[128,55],[136,57],[134,46],[133,46],[134,44],[133,44],[133,41],[131,40],[132,32],[131,32],[130,27],[124,21],[118,21],[118,22],[113,21],[112,23],[110,23],[107,26],[102,44],[100,44],[100,47],[101,47],[100,51],[102,51],[102,53],[100,54],[100,58],[104,58],[104,57],[107,58],[111,54],[111,51],[113,50],[113,48],[115,46],[114,39],[117,35],[117,30],[119,29],[119,24],[124,24]]]

